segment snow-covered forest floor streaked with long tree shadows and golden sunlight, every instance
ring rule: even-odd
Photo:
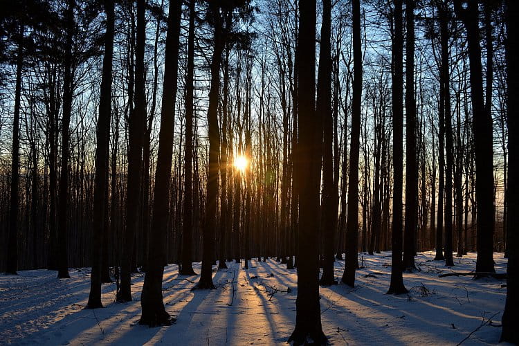
[[[408,295],[386,295],[391,254],[359,254],[361,269],[354,289],[344,284],[320,289],[322,329],[335,345],[498,343],[504,309],[504,281],[442,277],[439,273],[473,271],[475,254],[455,258],[455,267],[419,253],[417,273],[404,273]],[[498,273],[506,271],[495,253]],[[134,301],[113,302],[115,284],[103,284],[104,309],[86,310],[89,268],[72,268],[71,279],[54,271],[0,275],[0,344],[21,345],[273,345],[285,343],[295,324],[296,271],[269,259],[253,260],[248,271],[230,264],[215,271],[218,287],[191,291],[198,276],[179,276],[165,268],[166,310],[176,317],[170,327],[138,325],[144,276],[133,278]],[[336,262],[336,277],[344,262]],[[200,264],[194,264],[199,272]],[[479,328],[479,329],[478,329]]]

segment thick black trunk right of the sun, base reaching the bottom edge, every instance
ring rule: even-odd
[[[315,114],[316,1],[300,0],[298,42],[298,175],[300,215],[298,234],[298,298],[295,301],[295,329],[289,343],[303,345],[313,340],[325,344],[319,304],[319,185],[320,127]],[[304,159],[303,159],[304,158]]]

